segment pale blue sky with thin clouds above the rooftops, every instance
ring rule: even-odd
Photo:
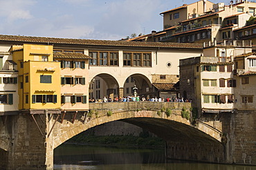
[[[119,40],[132,33],[145,35],[152,30],[163,30],[161,12],[194,2],[0,0],[0,35]]]

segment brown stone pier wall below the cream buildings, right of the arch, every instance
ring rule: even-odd
[[[256,164],[256,111],[236,111],[224,117],[228,162]]]

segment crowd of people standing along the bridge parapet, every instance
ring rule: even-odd
[[[89,102],[191,102],[191,100],[183,99],[183,97],[152,97],[152,98],[145,98],[140,96],[127,96],[127,97],[103,97],[103,99],[95,100],[93,97],[89,100]]]

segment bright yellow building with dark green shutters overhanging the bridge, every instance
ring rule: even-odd
[[[53,46],[24,44],[10,49],[19,71],[19,110],[60,109],[60,62]]]

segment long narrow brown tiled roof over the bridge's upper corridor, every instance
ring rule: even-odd
[[[68,45],[88,45],[88,46],[116,46],[116,47],[147,47],[147,48],[197,48],[202,49],[202,44],[170,43],[170,42],[147,42],[147,41],[111,41],[95,39],[64,39],[52,37],[27,37],[17,35],[0,35],[0,42],[15,41],[16,43],[36,43],[36,44],[68,44]]]

